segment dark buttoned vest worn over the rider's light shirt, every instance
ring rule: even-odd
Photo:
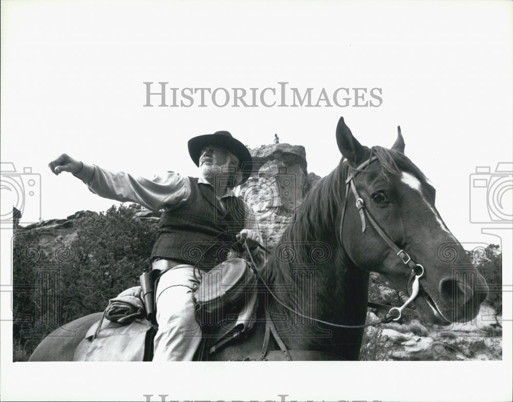
[[[245,227],[246,206],[238,197],[227,197],[226,213],[211,185],[189,177],[187,201],[163,212],[151,258],[183,261],[209,269],[226,259],[230,250],[240,251],[235,235]]]

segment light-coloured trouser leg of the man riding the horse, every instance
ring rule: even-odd
[[[153,361],[192,361],[201,342],[201,328],[194,316],[192,265],[176,265],[159,279],[155,290],[156,320]],[[199,275],[199,271],[196,271]]]

